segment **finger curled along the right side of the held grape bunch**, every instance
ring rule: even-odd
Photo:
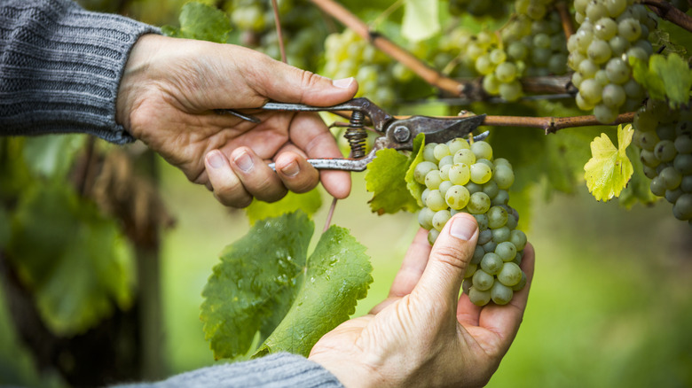
[[[535,253],[533,245],[526,244],[523,249],[521,268],[526,274],[526,285],[521,291],[515,292],[514,297],[506,306],[485,307],[479,317],[479,326],[491,330],[500,338],[500,345],[507,351],[519,330],[519,325],[523,319],[523,312],[531,289],[533,280]]]

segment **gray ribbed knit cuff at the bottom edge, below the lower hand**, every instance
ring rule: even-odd
[[[118,387],[343,388],[343,385],[316,362],[295,354],[276,353],[252,361],[196,369],[158,383],[129,384]]]

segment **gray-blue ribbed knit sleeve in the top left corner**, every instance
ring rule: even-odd
[[[0,0],[0,135],[134,139],[115,122],[130,49],[158,29],[68,0]]]

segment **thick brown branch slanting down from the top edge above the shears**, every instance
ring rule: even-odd
[[[418,74],[430,85],[452,96],[465,97],[464,85],[462,83],[440,74],[434,68],[424,64],[419,58],[416,58],[413,54],[397,45],[397,43],[391,42],[385,36],[370,31],[370,28],[363,20],[358,19],[356,15],[341,4],[335,3],[333,0],[311,1],[323,12],[339,20],[344,26],[352,29],[367,42],[372,43],[374,47],[389,55],[390,58],[396,59],[402,65],[411,69],[413,73]]]

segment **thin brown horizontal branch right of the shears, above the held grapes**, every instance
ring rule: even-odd
[[[554,134],[560,129],[590,127],[595,125],[617,125],[632,122],[634,113],[622,113],[610,124],[603,124],[593,115],[572,117],[523,117],[523,116],[485,116],[483,125],[495,127],[529,127],[541,128],[547,134]]]

